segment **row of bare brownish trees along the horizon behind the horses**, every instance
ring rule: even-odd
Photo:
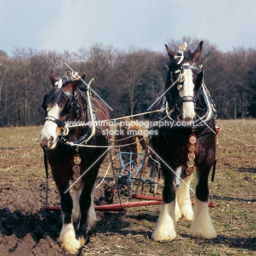
[[[182,38],[167,44],[178,50],[184,41],[192,50],[200,42]],[[69,71],[68,66],[85,74],[86,83],[94,78],[91,88],[113,109],[112,118],[146,112],[152,97],[164,88],[167,62],[164,45],[161,53],[102,44],[64,53],[17,48],[8,56],[0,50],[0,126],[43,124],[41,102],[51,87],[50,72],[58,77]],[[256,117],[255,49],[223,53],[204,40],[201,63],[219,118]]]

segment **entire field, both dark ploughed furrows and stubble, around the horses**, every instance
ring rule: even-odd
[[[213,184],[209,178],[215,203],[210,214],[217,238],[192,238],[191,222],[181,219],[175,240],[153,241],[150,237],[161,205],[127,208],[125,214],[97,211],[97,231],[77,255],[256,255],[256,121],[218,124],[223,129]],[[41,128],[0,129],[0,256],[69,255],[56,242],[62,226],[61,212],[43,209],[46,179],[38,139]],[[95,205],[112,203],[112,193],[108,191],[113,185],[111,168],[106,174],[109,163],[107,155],[96,181],[102,183],[96,189]],[[117,159],[114,164],[114,171],[118,172]],[[146,177],[149,178],[149,168]],[[193,185],[195,182],[194,178]],[[48,204],[59,206],[60,198],[51,177],[48,183]],[[149,190],[147,184],[144,194],[152,195]],[[159,185],[158,191],[161,190]],[[127,201],[125,187],[121,201]],[[118,196],[115,203],[119,203]]]

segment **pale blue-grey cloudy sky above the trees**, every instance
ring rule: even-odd
[[[95,43],[163,51],[171,39],[256,48],[255,0],[0,0],[0,49],[77,51]],[[183,42],[181,42],[183,43]]]

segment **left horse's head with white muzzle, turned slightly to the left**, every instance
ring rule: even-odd
[[[53,149],[56,146],[61,129],[69,120],[74,120],[77,96],[75,90],[83,83],[81,77],[73,72],[67,72],[66,77],[56,78],[54,72],[50,76],[51,88],[44,95],[42,107],[47,112],[40,141],[43,147]]]

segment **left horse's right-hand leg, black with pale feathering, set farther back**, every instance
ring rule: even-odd
[[[84,185],[86,187],[86,185]],[[89,185],[91,187],[91,185]],[[84,188],[80,195],[80,223],[77,226],[77,240],[80,246],[88,240],[96,229],[96,213],[94,209],[95,184],[91,188]]]

